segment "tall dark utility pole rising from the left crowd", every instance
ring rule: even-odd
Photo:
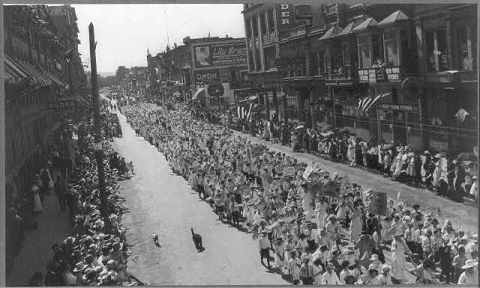
[[[98,167],[98,188],[100,191],[101,200],[101,213],[105,219],[107,215],[107,202],[105,195],[105,171],[103,167],[103,151],[102,151],[102,135],[100,127],[100,99],[98,95],[98,82],[97,82],[97,58],[95,54],[95,48],[97,43],[95,42],[95,32],[93,23],[88,25],[88,32],[90,36],[90,68],[91,68],[91,82],[92,82],[92,97],[93,97],[93,111],[94,111],[94,125],[95,125],[95,156],[97,159]]]

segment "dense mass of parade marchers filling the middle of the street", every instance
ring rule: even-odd
[[[449,221],[441,226],[418,205],[400,202],[386,217],[374,215],[359,185],[324,171],[309,176],[323,183],[312,190],[302,177],[305,164],[177,107],[165,111],[137,104],[121,110],[220,220],[258,237],[261,263],[287,281],[478,282],[476,234],[468,237]]]

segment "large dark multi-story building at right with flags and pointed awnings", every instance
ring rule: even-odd
[[[245,4],[251,93],[267,119],[328,124],[419,150],[471,151],[476,11],[472,4]]]

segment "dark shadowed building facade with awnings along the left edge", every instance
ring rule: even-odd
[[[80,99],[86,79],[73,8],[12,5],[3,15],[6,207],[12,207],[30,193],[33,173],[45,164],[48,137],[72,116],[65,112]],[[8,238],[7,267],[15,247]]]

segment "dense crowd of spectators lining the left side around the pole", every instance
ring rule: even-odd
[[[46,273],[34,273],[29,279],[30,286],[141,284],[127,272],[126,229],[120,223],[125,208],[117,182],[129,173],[129,165],[110,144],[112,137],[121,136],[120,125],[118,117],[109,112],[102,114],[102,120],[106,140],[102,192],[98,187],[93,122],[88,120],[69,123],[61,130],[58,138],[70,143],[69,152],[61,154],[58,151],[61,147],[52,145],[48,165],[33,181],[29,201],[32,213],[42,213],[44,196],[55,193],[61,211],[68,209],[69,215],[65,217],[71,219],[73,228],[70,236],[52,245],[54,256]]]

